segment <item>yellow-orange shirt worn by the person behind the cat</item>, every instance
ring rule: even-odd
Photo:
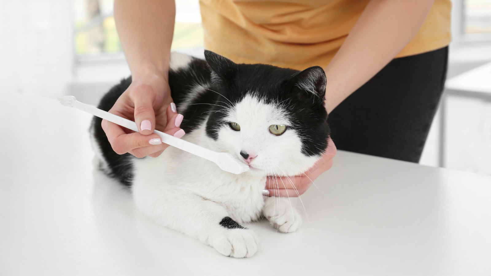
[[[369,0],[200,0],[205,48],[237,63],[302,70],[326,66]],[[450,0],[435,0],[396,57],[450,43]]]

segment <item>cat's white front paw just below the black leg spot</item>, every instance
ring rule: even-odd
[[[252,257],[259,247],[259,239],[250,229],[226,229],[213,247],[225,256]]]

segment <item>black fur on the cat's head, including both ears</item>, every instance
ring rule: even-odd
[[[324,107],[326,74],[321,67],[313,66],[299,72],[266,64],[235,64],[211,51],[205,51],[205,57],[211,70],[215,71],[215,77],[222,79],[215,81],[218,84],[212,88],[217,91],[219,105],[210,107],[206,125],[206,134],[210,138],[218,139],[218,130],[229,123],[221,120],[226,115],[222,106],[235,105],[247,94],[252,94],[266,104],[276,103],[288,112],[293,121],[288,128],[299,133],[303,154],[324,153],[330,130]]]

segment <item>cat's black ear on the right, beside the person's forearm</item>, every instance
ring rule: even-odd
[[[324,100],[326,94],[326,73],[320,66],[309,67],[292,79],[300,90]]]

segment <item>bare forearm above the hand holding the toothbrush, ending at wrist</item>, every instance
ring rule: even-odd
[[[115,0],[114,19],[134,79],[167,78],[174,32],[174,0]]]

